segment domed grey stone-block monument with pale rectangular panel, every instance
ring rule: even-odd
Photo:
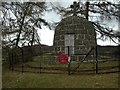
[[[85,55],[96,45],[94,26],[77,14],[62,19],[55,29],[54,49],[57,54],[69,52],[73,55]]]

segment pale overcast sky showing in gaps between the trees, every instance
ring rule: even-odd
[[[54,5],[57,4],[56,1],[58,0],[46,0],[47,2],[53,2]],[[69,7],[73,1],[78,1],[78,0],[61,0],[59,3],[64,6],[64,7]],[[111,1],[111,0],[110,0]],[[115,0],[113,0],[115,1]],[[48,22],[59,22],[61,21],[61,18],[59,15],[57,15],[56,13],[52,12],[45,12],[44,17]],[[104,23],[108,23],[106,21],[104,21]],[[115,30],[118,30],[118,23],[116,23],[116,19],[113,19],[111,21],[109,21],[108,23],[109,26],[111,26],[111,28],[114,28]],[[49,45],[52,46],[53,45],[53,39],[54,39],[54,30],[49,30],[47,27],[42,27],[42,29],[38,30],[38,33],[40,35],[41,38],[41,44],[45,44],[45,45]],[[107,41],[101,41],[101,40],[97,40],[97,44],[98,45],[117,45],[114,42],[107,40]]]

